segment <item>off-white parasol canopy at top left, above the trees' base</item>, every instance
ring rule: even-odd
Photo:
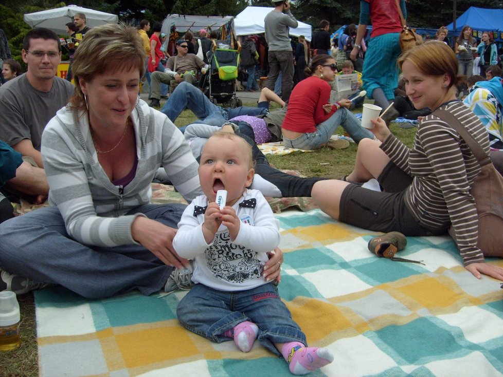
[[[24,20],[32,28],[42,27],[50,29],[56,34],[66,34],[65,24],[72,22],[74,15],[77,13],[85,14],[86,25],[90,28],[103,24],[117,24],[119,21],[116,14],[82,8],[76,5],[28,13],[24,15]]]

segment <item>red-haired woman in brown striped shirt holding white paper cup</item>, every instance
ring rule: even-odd
[[[487,131],[456,98],[458,62],[451,48],[429,41],[402,54],[398,64],[417,109],[451,112],[489,153]],[[312,197],[320,209],[361,228],[406,236],[441,235],[452,225],[465,268],[477,278],[486,274],[503,280],[503,268],[486,263],[477,248],[477,211],[469,190],[480,165],[454,128],[430,114],[408,148],[381,118],[372,124],[379,140],[358,145],[353,172],[344,180],[314,184]],[[357,184],[371,178],[384,192]]]

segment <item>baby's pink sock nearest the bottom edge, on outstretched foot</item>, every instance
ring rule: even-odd
[[[290,372],[296,375],[308,374],[334,360],[327,348],[306,347],[300,342],[285,343],[281,354],[289,364]]]

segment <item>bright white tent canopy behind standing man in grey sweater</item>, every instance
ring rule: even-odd
[[[234,20],[236,35],[264,33],[264,18],[273,9],[266,7],[246,7]],[[296,29],[290,28],[290,35],[303,35],[306,37],[306,40],[311,41],[311,29],[311,25],[299,21],[299,26]]]

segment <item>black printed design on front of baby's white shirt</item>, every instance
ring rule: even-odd
[[[219,279],[242,283],[262,276],[263,267],[257,253],[232,243],[228,231],[215,234],[213,244],[205,254],[208,269]]]

